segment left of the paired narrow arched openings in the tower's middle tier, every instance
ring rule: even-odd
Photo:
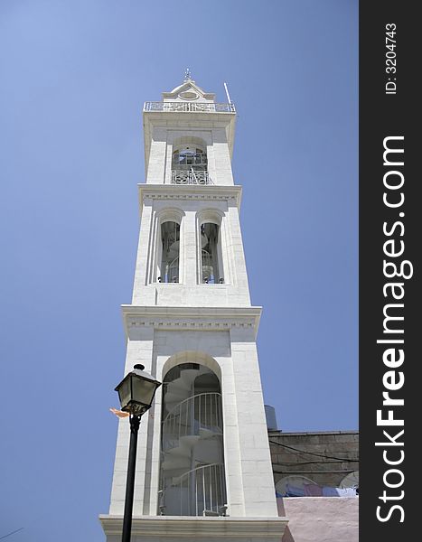
[[[161,262],[158,282],[178,283],[180,264],[180,224],[166,221],[161,224]]]

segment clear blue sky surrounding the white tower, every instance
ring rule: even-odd
[[[266,402],[285,431],[357,428],[357,39],[352,0],[2,0],[0,537],[23,528],[7,542],[103,540],[141,108],[187,66],[239,111]]]

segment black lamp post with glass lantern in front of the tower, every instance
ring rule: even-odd
[[[125,514],[123,516],[122,542],[130,542],[132,530],[132,511],[134,506],[135,469],[137,432],[141,416],[148,408],[151,408],[155,391],[161,382],[155,380],[141,364],[134,365],[134,370],[129,372],[117,385],[121,409],[129,413],[130,421],[130,444],[129,459],[127,463],[127,482],[125,497]]]

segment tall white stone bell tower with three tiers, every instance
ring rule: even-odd
[[[144,107],[146,182],[131,304],[123,305],[125,374],[163,382],[142,418],[132,539],[280,541],[256,335],[233,181],[236,110],[189,70]],[[119,421],[111,503],[121,537],[129,424]]]

